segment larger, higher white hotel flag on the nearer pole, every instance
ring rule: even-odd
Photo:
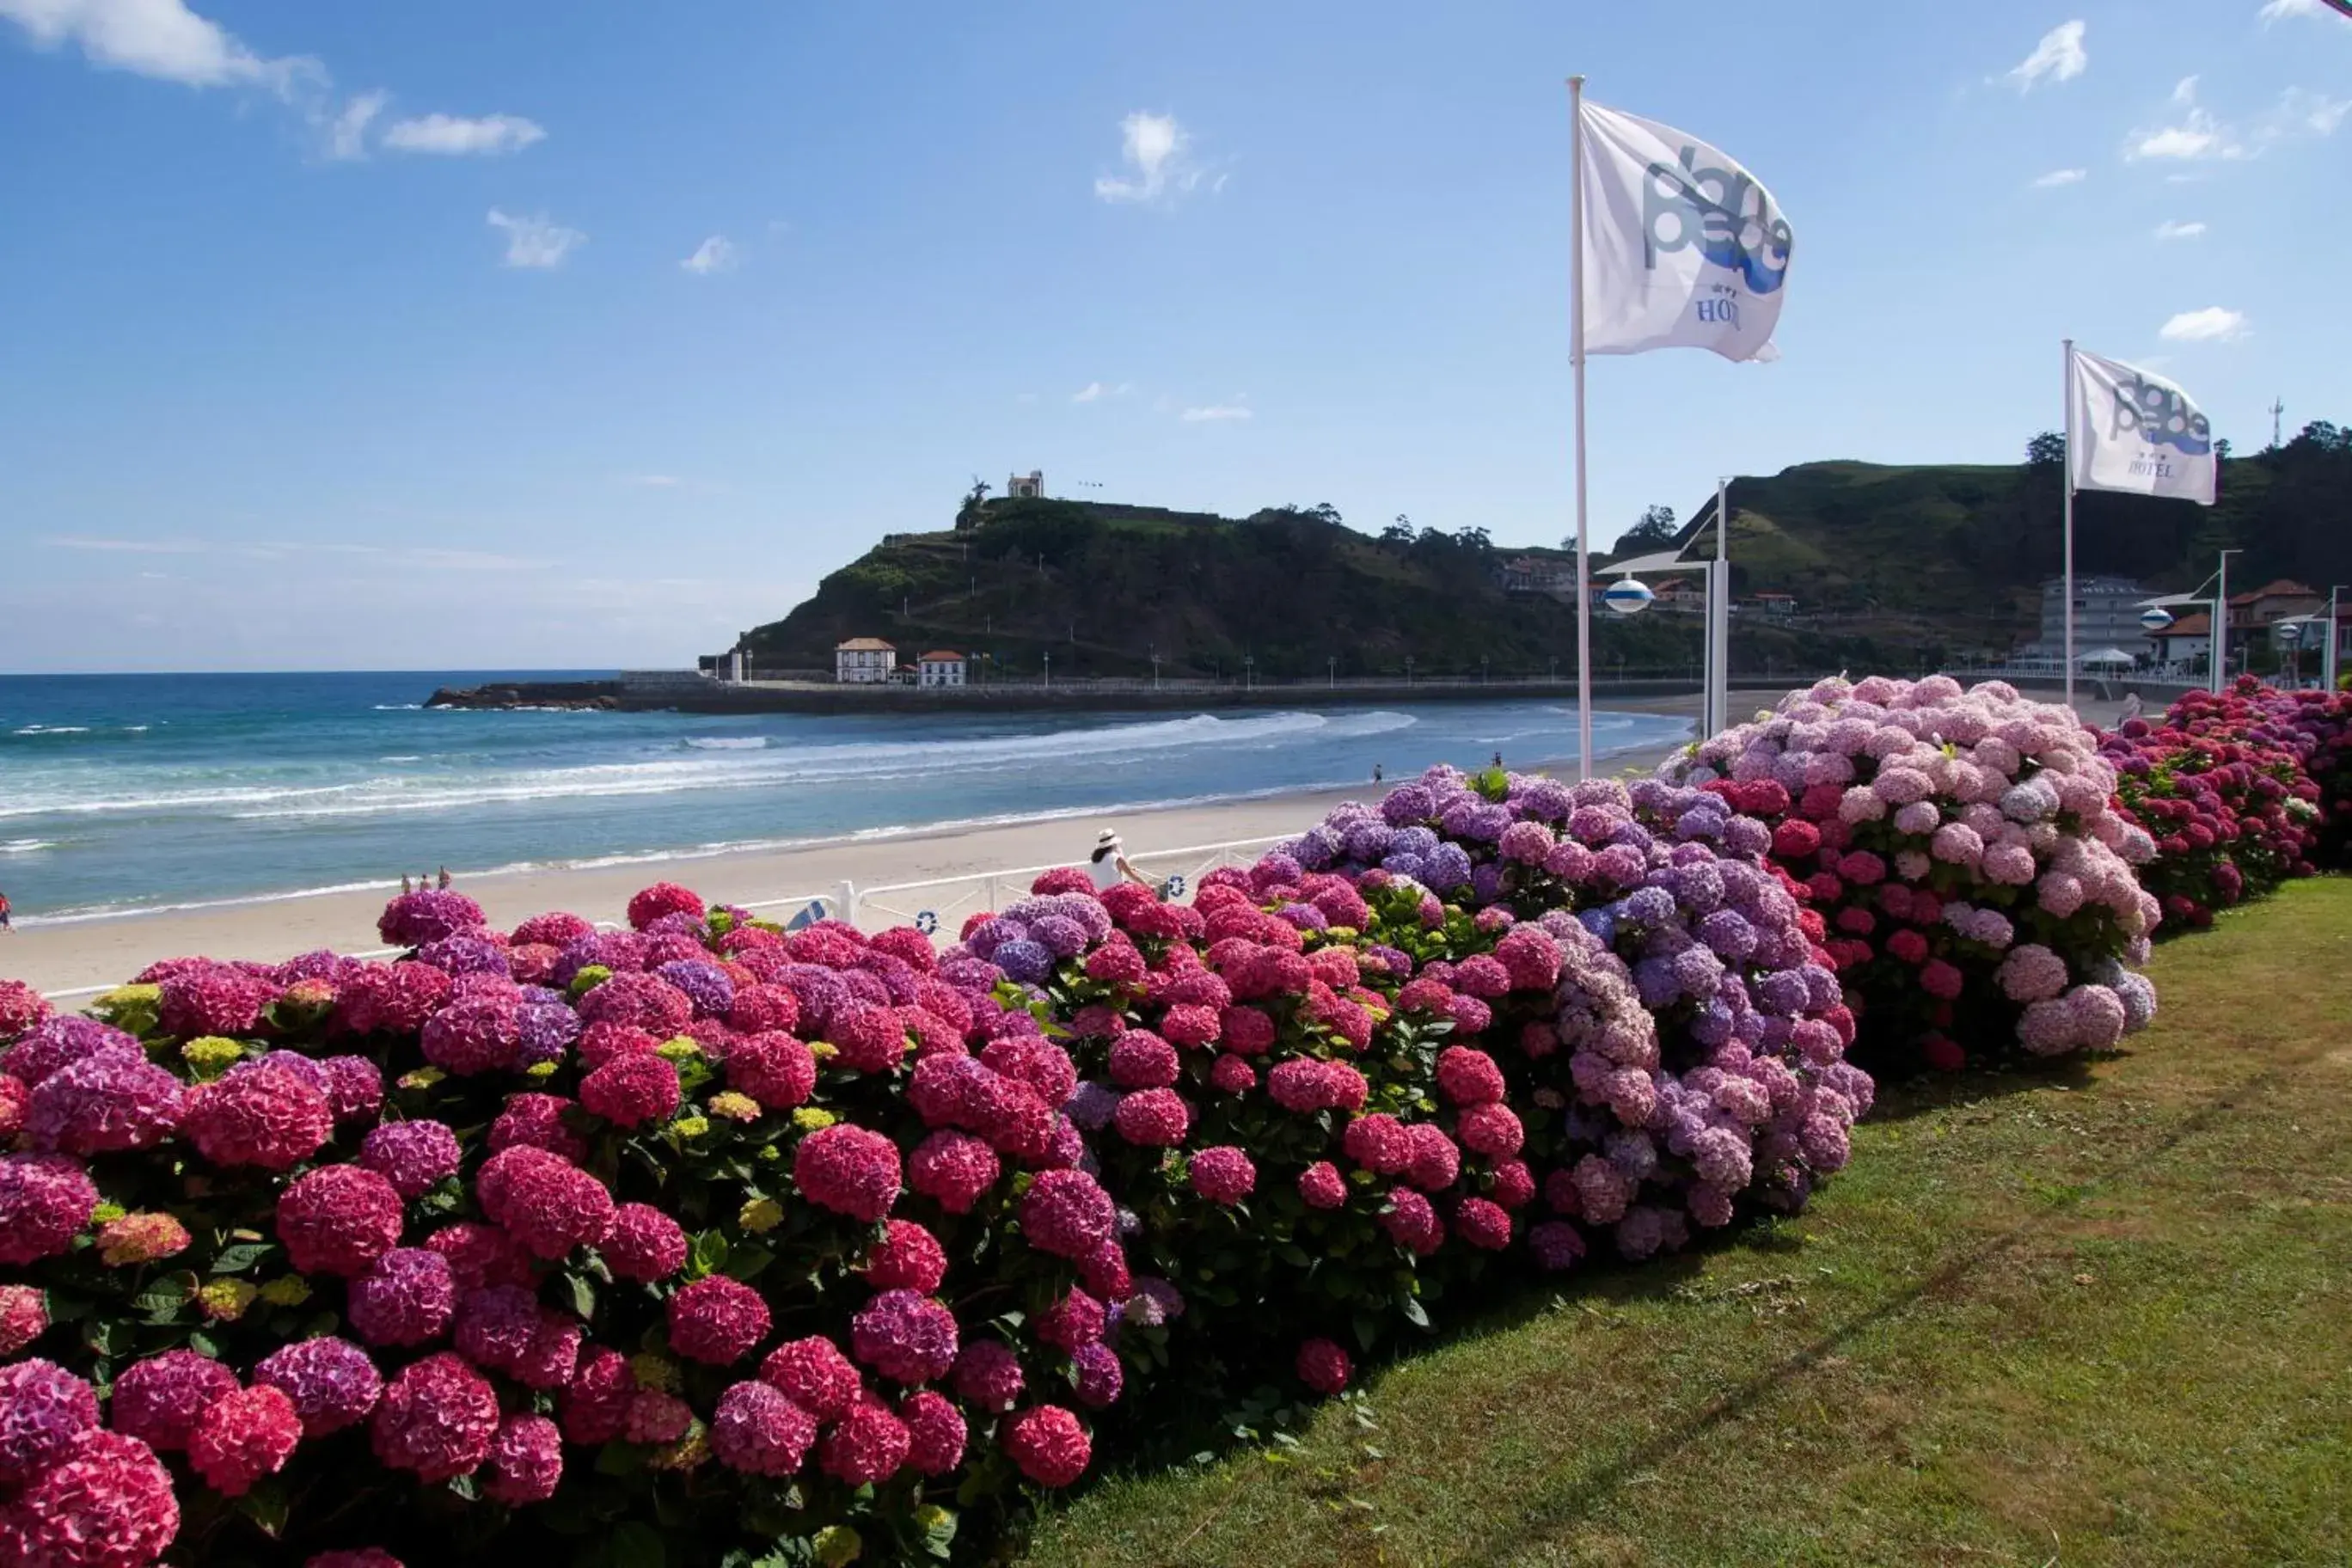
[[[1771,193],[1656,120],[1585,103],[1583,132],[1585,353],[1778,360],[1790,228]]]

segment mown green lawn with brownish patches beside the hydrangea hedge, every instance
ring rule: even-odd
[[[1889,1084],[1802,1218],[1505,1300],[1374,1427],[1112,1476],[1021,1561],[2352,1561],[2352,879],[2152,973],[2126,1053]]]

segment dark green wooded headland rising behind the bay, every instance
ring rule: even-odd
[[[2049,442],[2018,465],[1802,463],[1731,487],[1733,592],[1790,592],[1802,618],[1740,616],[1738,670],[1910,668],[2004,651],[2037,630],[2058,571],[2060,463]],[[1708,527],[1712,498],[1682,529]],[[746,637],[764,670],[830,670],[833,644],[887,637],[988,654],[1002,675],[1263,677],[1545,675],[1573,670],[1566,597],[1508,592],[1508,562],[1566,567],[1562,550],[1498,550],[1484,529],[1345,527],[1329,505],[1228,520],[1084,501],[967,501],[960,527],[894,534],[833,571],[783,621]],[[1399,520],[1402,524],[1402,520]],[[2185,590],[2213,550],[2232,578],[2352,581],[2352,433],[2312,425],[2281,449],[2230,458],[2223,503],[2084,494],[2077,571]],[[1698,658],[1698,618],[1651,611],[1595,623],[1595,668]]]

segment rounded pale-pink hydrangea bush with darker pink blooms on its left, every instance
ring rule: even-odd
[[[2136,973],[2161,910],[2072,712],[2002,682],[1828,679],[1661,773],[1771,825],[1823,947],[1893,1067],[2114,1046],[2154,1013]]]

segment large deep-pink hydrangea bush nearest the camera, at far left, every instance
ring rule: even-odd
[[[673,1561],[887,1559],[967,1486],[1073,1481],[1124,1378],[1051,1307],[1131,1286],[1007,971],[675,886],[630,926],[428,891],[388,964],[0,990],[0,1556],[430,1561],[473,1497],[463,1540],[564,1561],[659,1490]]]

